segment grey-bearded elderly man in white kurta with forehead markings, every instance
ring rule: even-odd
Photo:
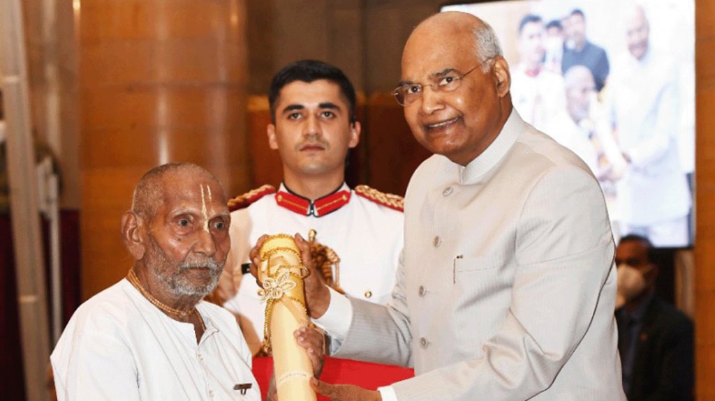
[[[89,299],[52,352],[59,400],[260,400],[235,318],[202,300],[230,250],[221,184],[190,163],[146,173],[122,216],[134,265]],[[297,330],[320,369],[322,336]]]

